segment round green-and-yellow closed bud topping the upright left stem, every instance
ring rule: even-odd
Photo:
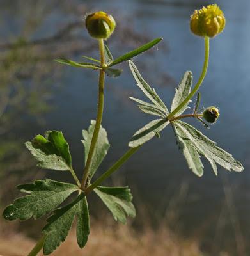
[[[111,15],[105,12],[91,13],[85,20],[88,33],[97,39],[107,39],[116,28],[116,22]]]

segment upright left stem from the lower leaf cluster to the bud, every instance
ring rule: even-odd
[[[99,49],[100,49],[100,67],[105,67],[105,54],[104,54],[104,40],[99,40]],[[85,189],[86,182],[88,180],[88,173],[90,172],[90,164],[95,152],[95,146],[97,145],[98,134],[100,131],[100,125],[102,124],[102,113],[104,111],[104,80],[105,80],[105,70],[100,70],[99,75],[99,89],[98,89],[98,109],[97,109],[97,121],[95,124],[95,129],[93,132],[93,137],[90,144],[90,151],[88,153],[88,159],[86,161],[86,166],[84,169],[81,189]]]

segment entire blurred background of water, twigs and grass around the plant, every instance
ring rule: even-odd
[[[114,57],[153,38],[164,38],[134,61],[169,106],[186,70],[192,70],[194,82],[199,77],[203,39],[189,31],[189,17],[206,4],[210,1],[0,0],[1,211],[19,195],[17,184],[43,177],[72,181],[68,173],[36,168],[24,147],[36,134],[63,131],[74,168],[81,176],[81,131],[96,117],[98,72],[59,65],[53,59],[98,58],[97,42],[84,28],[84,15],[104,10],[114,16],[116,30],[107,41]],[[113,223],[105,206],[91,196],[90,244],[77,250],[72,235],[68,246],[54,255],[123,255],[125,250],[130,255],[250,255],[250,2],[217,0],[217,4],[227,24],[223,34],[211,40],[201,104],[218,106],[221,117],[209,130],[190,122],[241,161],[245,171],[229,173],[219,168],[216,177],[204,161],[205,173],[196,177],[169,127],[160,140],[146,143],[107,182],[129,184],[136,219],[127,227]],[[127,150],[132,134],[152,120],[129,100],[129,96],[142,97],[142,93],[127,63],[121,68],[120,77],[106,80],[102,125],[111,149],[97,175]],[[1,220],[0,254],[26,255],[44,224],[45,219],[36,223]]]

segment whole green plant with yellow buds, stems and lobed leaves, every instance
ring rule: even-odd
[[[203,175],[201,156],[207,158],[216,175],[217,164],[227,170],[236,172],[244,170],[242,164],[236,161],[231,154],[219,148],[214,141],[183,121],[185,118],[195,118],[202,122],[205,127],[208,127],[207,122],[214,123],[219,118],[219,109],[214,106],[208,107],[202,113],[199,113],[201,94],[198,90],[207,72],[210,37],[221,33],[225,23],[223,12],[216,4],[196,10],[191,15],[191,31],[196,35],[203,36],[205,40],[203,70],[194,86],[192,86],[192,72],[185,72],[176,89],[169,110],[164,101],[157,95],[155,89],[146,83],[132,61],[134,56],[152,48],[162,38],[152,40],[148,44],[114,59],[111,51],[104,44],[104,40],[111,36],[116,26],[114,18],[104,12],[92,13],[86,17],[86,28],[99,43],[100,60],[87,56],[83,57],[89,62],[76,62],[63,58],[56,60],[59,63],[73,67],[90,68],[99,71],[97,120],[91,120],[90,127],[82,131],[85,156],[82,179],[81,181],[78,179],[72,168],[69,145],[62,132],[47,131],[44,136],[37,135],[33,140],[26,142],[27,149],[38,161],[37,166],[43,169],[70,172],[75,184],[45,179],[19,185],[17,188],[27,195],[14,200],[13,204],[8,205],[3,212],[3,217],[6,220],[20,221],[25,221],[29,218],[36,219],[50,214],[47,219],[47,225],[42,230],[42,237],[31,250],[29,256],[37,255],[42,248],[44,255],[49,255],[56,250],[61,242],[65,241],[74,220],[76,221],[77,243],[80,248],[86,245],[90,234],[87,198],[93,191],[111,211],[114,220],[126,223],[128,217],[135,217],[136,210],[132,204],[132,194],[127,186],[106,187],[101,186],[101,184],[112,173],[116,172],[146,141],[155,136],[160,137],[160,132],[168,125],[173,127],[176,140],[189,168],[199,177]],[[141,111],[157,116],[157,118],[139,129],[129,141],[129,150],[111,168],[92,181],[93,175],[97,172],[110,147],[107,131],[101,125],[104,111],[105,75],[120,76],[121,70],[113,67],[124,61],[129,61],[129,67],[137,86],[146,95],[148,102],[134,97],[130,97],[130,99],[138,104]],[[190,109],[189,104],[196,94],[194,110],[183,114],[184,111]],[[73,199],[68,203],[67,198],[72,194],[74,195],[71,196]]]

